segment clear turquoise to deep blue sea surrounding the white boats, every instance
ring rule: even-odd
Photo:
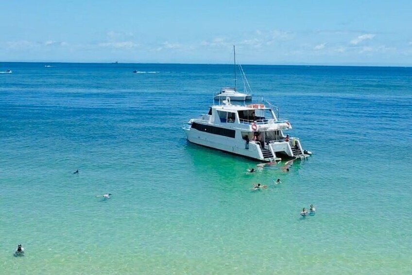
[[[44,65],[0,64],[1,274],[412,273],[411,68],[244,66],[314,153],[246,175],[181,129],[231,66]]]

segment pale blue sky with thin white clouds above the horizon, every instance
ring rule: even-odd
[[[1,0],[0,62],[412,66],[411,0]]]

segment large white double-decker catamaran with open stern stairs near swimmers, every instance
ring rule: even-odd
[[[190,119],[183,129],[189,142],[259,161],[308,157],[298,138],[284,134],[292,126],[279,120],[274,110],[278,109],[264,104],[232,105],[227,98],[207,114]]]

